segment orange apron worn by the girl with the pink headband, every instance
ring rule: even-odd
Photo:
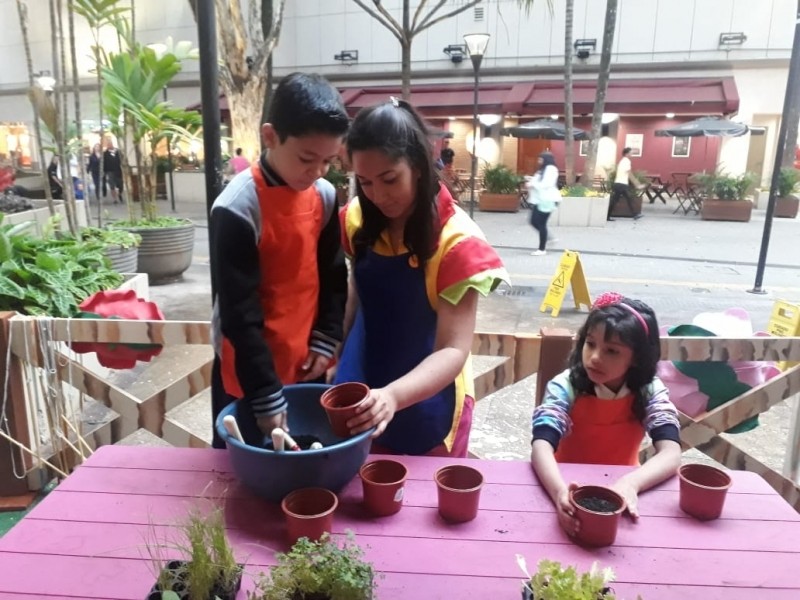
[[[578,396],[569,413],[572,431],[561,439],[556,460],[638,466],[644,427],[632,407],[633,394],[611,400]]]

